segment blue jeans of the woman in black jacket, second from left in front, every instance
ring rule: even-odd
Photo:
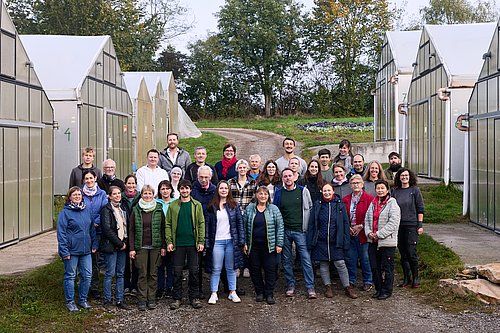
[[[116,302],[123,302],[123,276],[125,274],[125,261],[127,260],[126,251],[113,253],[102,253],[106,263],[106,274],[104,274],[104,283],[102,285],[104,293],[104,302],[111,302],[111,283],[116,275]]]

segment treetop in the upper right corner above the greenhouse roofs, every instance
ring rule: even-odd
[[[423,24],[458,24],[496,21],[495,0],[430,0],[420,10]]]

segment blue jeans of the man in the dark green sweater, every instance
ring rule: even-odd
[[[295,242],[295,249],[302,261],[302,271],[306,281],[306,288],[314,288],[314,273],[311,263],[311,256],[307,251],[306,233],[285,229],[285,244],[283,246],[283,268],[288,286],[295,286],[295,276],[293,275],[293,255],[292,242]]]

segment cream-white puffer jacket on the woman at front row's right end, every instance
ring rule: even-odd
[[[375,198],[374,200],[378,200]],[[395,247],[398,245],[398,230],[401,219],[401,211],[398,202],[394,198],[389,198],[386,205],[380,211],[378,219],[378,230],[373,230],[373,202],[368,207],[365,216],[365,235],[376,232],[378,237],[378,247]],[[368,242],[372,243],[368,238]]]

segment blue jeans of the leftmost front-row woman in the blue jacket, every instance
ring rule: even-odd
[[[78,303],[87,301],[87,295],[90,288],[90,279],[92,278],[92,258],[90,254],[71,255],[70,259],[64,262],[64,297],[66,303],[75,300],[75,278],[76,269],[80,272],[80,283],[78,285]]]

